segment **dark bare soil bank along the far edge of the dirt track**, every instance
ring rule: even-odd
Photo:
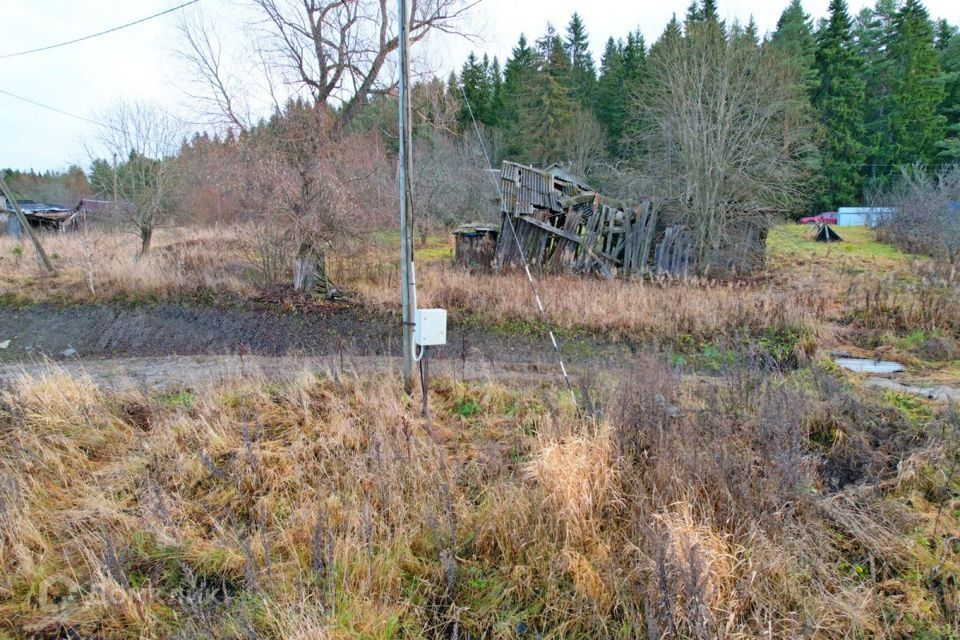
[[[400,320],[371,314],[345,302],[309,305],[254,301],[243,307],[176,304],[0,306],[0,361],[49,357],[68,349],[80,358],[252,354],[263,356],[398,356]],[[546,335],[504,336],[477,326],[451,323],[448,344],[431,357],[490,362],[554,361]],[[630,357],[627,345],[581,337],[564,346],[578,364],[606,366]]]

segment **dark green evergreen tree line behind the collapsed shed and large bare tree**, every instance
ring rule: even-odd
[[[533,43],[521,35],[502,64],[471,53],[447,83],[450,98],[460,103],[458,124],[470,125],[472,110],[504,141],[502,156],[580,164],[574,168],[587,171],[583,165],[590,162],[575,151],[584,146],[584,132],[600,130],[597,159],[638,164],[643,148],[637,140],[650,125],[646,96],[660,81],[650,58],[671,40],[688,38],[698,24],[716,26],[728,40],[748,39],[793,68],[781,80],[802,88],[814,125],[805,131],[813,151],[804,158],[811,178],[806,207],[859,202],[865,191],[889,186],[904,166],[960,162],[960,34],[945,20],[932,21],[919,0],[878,0],[855,17],[844,0],[832,0],[817,25],[801,1],[792,0],[764,38],[752,19],[726,25],[715,0],[702,0],[682,23],[674,17],[651,47],[639,31],[611,37],[599,65],[574,14],[562,34],[548,25]],[[683,61],[676,62],[680,72]]]

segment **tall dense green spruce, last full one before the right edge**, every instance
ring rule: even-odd
[[[938,113],[944,86],[933,25],[919,0],[907,0],[897,12],[891,36],[891,164],[929,164],[946,132]]]

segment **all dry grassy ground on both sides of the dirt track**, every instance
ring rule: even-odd
[[[0,638],[958,637],[960,418],[825,357],[955,382],[956,282],[867,230],[807,232],[737,281],[543,277],[563,332],[639,349],[581,372],[577,407],[546,381],[439,378],[428,420],[389,374],[21,376]],[[53,278],[2,239],[4,304],[249,304],[269,288],[240,237],[171,230],[133,262],[103,235],[92,268],[48,238]],[[331,252],[351,304],[395,313],[396,242]],[[522,275],[452,268],[445,236],[420,255],[421,304],[540,330]]]

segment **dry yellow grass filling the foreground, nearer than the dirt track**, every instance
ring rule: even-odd
[[[918,515],[932,505],[901,503],[944,486],[928,470],[948,468],[942,448],[910,458],[899,482],[808,487],[789,508],[762,493],[778,495],[784,471],[753,431],[770,419],[761,391],[713,436],[740,456],[728,462],[700,451],[709,435],[691,438],[728,419],[719,407],[656,436],[652,412],[584,421],[550,386],[441,379],[434,392],[428,425],[383,376],[238,378],[159,397],[55,369],[21,378],[0,403],[0,628],[896,638],[958,624],[936,596],[955,585],[930,582],[957,570],[956,553],[924,542],[935,523]],[[625,428],[641,433],[642,462],[617,444]],[[704,486],[711,465],[746,474],[740,495]],[[723,520],[725,502],[758,515]],[[940,538],[958,525],[956,497],[945,504]]]

